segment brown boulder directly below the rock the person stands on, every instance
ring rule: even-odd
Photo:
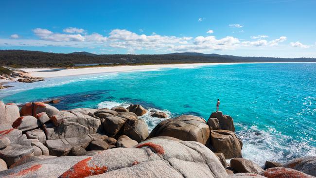
[[[214,152],[223,153],[226,159],[242,158],[236,134],[229,130],[211,130],[211,145]]]

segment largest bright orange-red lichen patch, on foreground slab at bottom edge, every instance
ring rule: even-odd
[[[88,161],[91,159],[92,157],[79,161],[68,171],[64,172],[59,178],[85,178],[88,176],[103,174],[107,171],[106,166],[99,167],[95,164],[94,167],[88,166]]]

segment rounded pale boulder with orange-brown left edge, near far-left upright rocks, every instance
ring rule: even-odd
[[[21,130],[22,132],[35,129],[39,127],[40,122],[33,116],[22,116],[19,117],[13,124],[12,127]]]

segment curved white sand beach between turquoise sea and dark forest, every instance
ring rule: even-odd
[[[65,69],[60,71],[45,71],[58,68],[22,68],[20,70],[29,72],[36,77],[53,78],[76,75],[88,75],[98,73],[112,73],[112,72],[130,72],[130,71],[150,71],[162,68],[194,68],[202,66],[214,65],[232,65],[232,64],[274,64],[274,63],[306,63],[306,62],[250,62],[250,63],[190,63],[190,64],[155,64],[155,65],[137,65],[137,66],[111,66],[111,67],[88,67],[81,69]],[[314,63],[314,62],[308,62]],[[0,81],[0,83],[2,83]]]

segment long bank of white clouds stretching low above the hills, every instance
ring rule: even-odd
[[[234,36],[216,38],[215,36],[161,36],[137,34],[125,29],[114,29],[107,36],[98,33],[69,34],[54,33],[48,29],[36,28],[34,34],[39,39],[0,39],[0,46],[58,46],[74,48],[98,48],[107,50],[126,49],[129,53],[137,50],[157,52],[205,52],[211,50],[235,50],[241,48],[272,48],[286,40],[285,36],[267,41],[244,41]],[[211,34],[212,30],[207,33]]]

